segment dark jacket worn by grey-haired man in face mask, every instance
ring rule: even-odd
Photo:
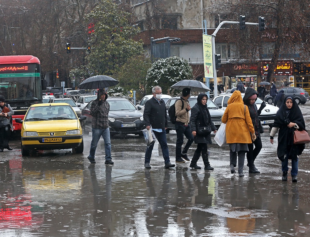
[[[168,127],[167,111],[165,102],[161,99],[159,102],[152,97],[144,106],[144,124],[152,128],[166,128]]]

